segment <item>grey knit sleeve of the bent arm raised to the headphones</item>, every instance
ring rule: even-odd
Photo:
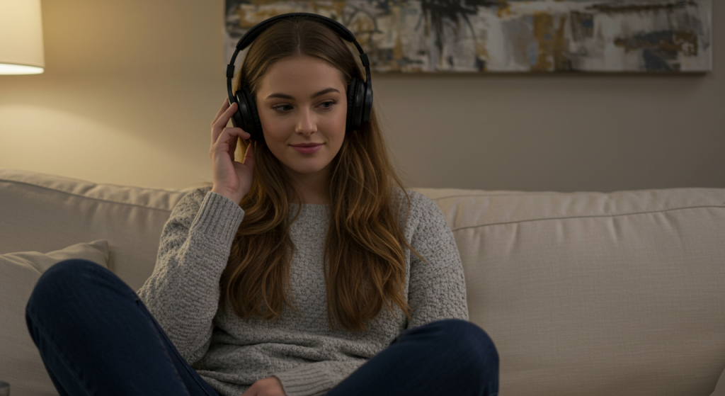
[[[152,276],[138,297],[188,363],[204,356],[219,280],[244,210],[209,187],[186,194],[165,224]]]

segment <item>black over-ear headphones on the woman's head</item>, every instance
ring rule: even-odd
[[[289,19],[294,17],[304,17],[310,20],[315,20],[331,28],[335,33],[346,41],[355,44],[357,51],[360,52],[360,60],[363,61],[365,67],[365,81],[360,81],[360,78],[355,76],[352,77],[352,81],[347,86],[347,126],[345,132],[352,132],[360,128],[360,125],[367,123],[370,120],[370,111],[373,109],[373,86],[370,80],[370,61],[368,60],[368,54],[365,54],[363,47],[355,40],[355,35],[344,27],[340,22],[332,20],[322,15],[310,14],[307,12],[291,12],[289,14],[277,15],[271,17],[268,20],[263,20],[253,28],[249,29],[244,36],[241,36],[239,43],[236,44],[236,51],[231,57],[229,65],[227,65],[227,92],[229,95],[229,105],[236,102],[237,110],[231,117],[231,123],[235,128],[242,128],[244,131],[252,135],[250,139],[255,141],[265,141],[264,135],[262,134],[262,125],[260,123],[260,116],[257,113],[257,107],[254,104],[254,97],[249,91],[249,88],[241,82],[240,88],[236,92],[231,90],[231,79],[234,77],[234,60],[240,51],[243,51],[249,44],[252,44],[254,38],[260,36],[260,34],[267,30],[271,25],[279,22],[283,19]]]

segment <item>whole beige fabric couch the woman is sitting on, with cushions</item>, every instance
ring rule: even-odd
[[[89,257],[138,289],[185,191],[0,170],[0,380],[12,396],[57,395],[25,330],[40,273]],[[500,395],[725,394],[725,379],[713,393],[725,189],[417,191],[453,230],[471,321],[500,354]]]

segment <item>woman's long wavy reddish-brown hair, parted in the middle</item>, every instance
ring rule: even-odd
[[[345,81],[353,75],[364,79],[355,55],[332,30],[312,20],[283,20],[249,47],[235,91],[244,81],[256,95],[262,76],[274,62],[299,55],[323,59],[340,70]],[[294,309],[290,281],[294,244],[288,231],[302,205],[289,220],[289,202],[299,195],[291,189],[281,163],[263,142],[250,146],[248,141],[240,141],[239,145],[242,158],[249,147],[254,149],[254,175],[249,193],[239,203],[244,220],[222,273],[219,304],[225,308],[229,302],[241,318],[259,315],[273,319],[283,304]],[[328,325],[334,329],[336,319],[349,331],[365,330],[365,323],[384,305],[391,313],[397,305],[410,318],[404,290],[404,247],[421,255],[405,240],[398,224],[402,209],[398,205],[403,199],[397,199],[394,184],[407,200],[404,224],[410,197],[389,162],[374,109],[369,123],[346,134],[333,167],[324,254]]]

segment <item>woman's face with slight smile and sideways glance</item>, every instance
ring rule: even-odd
[[[341,72],[322,59],[287,57],[262,76],[256,99],[267,146],[290,176],[326,174],[345,137]]]

